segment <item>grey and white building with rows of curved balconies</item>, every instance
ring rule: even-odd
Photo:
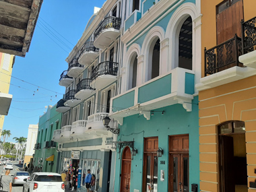
[[[124,13],[123,1],[106,1],[96,9],[67,57],[68,69],[59,82],[66,90],[57,104],[63,113],[62,128],[53,140],[59,142],[60,171],[82,168],[82,191],[88,168],[96,175],[96,191],[113,189],[116,154],[111,146],[117,135],[102,120],[110,113],[110,98],[118,92]],[[110,124],[117,128],[116,121]]]

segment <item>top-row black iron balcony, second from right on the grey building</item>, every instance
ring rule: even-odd
[[[78,63],[81,65],[90,65],[98,56],[99,49],[94,46],[94,42],[86,42],[79,51]]]

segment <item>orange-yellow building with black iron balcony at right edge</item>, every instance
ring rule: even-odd
[[[256,191],[255,7],[255,0],[201,1],[201,191]]]

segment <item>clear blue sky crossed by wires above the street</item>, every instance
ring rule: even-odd
[[[39,116],[46,111],[44,107],[56,104],[63,97],[65,88],[59,86],[59,77],[67,69],[65,59],[81,38],[94,7],[102,7],[103,3],[104,0],[43,1],[30,50],[25,58],[16,57],[12,73],[13,77],[36,86],[11,78],[14,86],[10,86],[9,94],[13,95],[13,101],[3,124],[3,129],[11,131],[11,137],[7,141],[13,141],[13,137],[27,137],[28,125],[38,123]]]

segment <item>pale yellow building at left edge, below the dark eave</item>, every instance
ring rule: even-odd
[[[0,53],[0,137],[3,130],[5,115],[8,114],[11,105],[12,95],[8,93],[14,61],[14,55]]]

